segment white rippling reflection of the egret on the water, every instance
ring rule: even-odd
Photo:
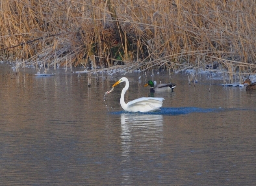
[[[149,167],[149,162],[156,164],[161,154],[163,116],[122,113],[120,138],[124,178],[122,184],[132,184],[132,175],[140,171],[144,174],[145,170],[139,169]]]

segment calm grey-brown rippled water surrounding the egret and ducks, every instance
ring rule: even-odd
[[[122,111],[124,83],[104,98],[119,74],[88,87],[86,74],[35,73],[0,66],[2,185],[256,184],[256,92],[172,74],[174,92],[151,95],[151,73],[128,74],[126,100],[165,98],[160,112],[138,114]]]

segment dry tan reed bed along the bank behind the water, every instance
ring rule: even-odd
[[[2,0],[0,59],[43,67],[256,72],[255,0]]]

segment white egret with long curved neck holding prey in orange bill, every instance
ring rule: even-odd
[[[107,91],[106,94],[113,91],[114,87],[121,83],[125,82],[125,87],[122,90],[121,97],[120,97],[120,104],[121,107],[128,112],[152,112],[156,110],[160,110],[160,107],[163,105],[163,97],[141,97],[135,100],[132,100],[128,103],[124,102],[124,94],[129,88],[129,81],[127,78],[123,77],[119,79],[115,84],[113,84],[112,89]]]

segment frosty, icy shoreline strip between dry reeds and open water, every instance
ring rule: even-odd
[[[249,74],[249,73],[231,73],[227,70],[225,71],[220,71],[219,69],[182,69],[177,72],[171,71],[171,70],[159,70],[159,69],[154,69],[154,70],[140,70],[140,69],[132,69],[132,67],[110,67],[110,68],[104,68],[104,69],[89,69],[89,68],[84,68],[84,67],[35,67],[33,65],[25,65],[23,66],[17,66],[17,64],[14,63],[4,63],[3,61],[0,62],[1,65],[7,65],[9,66],[13,72],[19,73],[21,70],[30,70],[32,69],[33,71],[37,71],[37,73],[32,73],[35,74],[35,76],[38,77],[43,77],[43,76],[53,76],[54,74],[57,73],[57,71],[61,71],[61,73],[64,74],[78,74],[78,77],[81,76],[81,74],[92,74],[92,75],[97,75],[104,74],[106,76],[114,76],[119,74],[120,76],[125,76],[126,74],[131,74],[131,73],[143,73],[148,74],[148,76],[158,76],[159,73],[164,72],[168,74],[168,76],[171,76],[171,74],[187,74],[188,76],[188,81],[189,82],[197,82],[197,76],[201,75],[206,75],[206,79],[211,79],[211,80],[223,80],[223,86],[238,86],[239,82],[236,80],[240,79],[240,82],[245,80],[246,78],[250,78],[252,82],[256,82],[256,74]],[[38,68],[38,69],[37,69]],[[230,76],[231,75],[231,76]],[[232,77],[232,79],[230,78]]]

